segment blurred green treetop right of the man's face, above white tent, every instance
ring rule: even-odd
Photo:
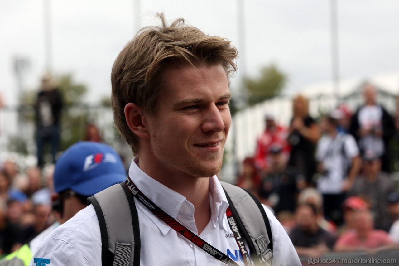
[[[248,92],[248,104],[255,105],[278,95],[288,78],[274,64],[263,67],[260,75],[244,81]]]

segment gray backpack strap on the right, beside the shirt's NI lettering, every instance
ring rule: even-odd
[[[271,265],[273,259],[273,237],[266,212],[259,200],[249,191],[229,183],[220,182],[225,190],[230,210],[238,218],[237,225],[248,243],[251,257]]]

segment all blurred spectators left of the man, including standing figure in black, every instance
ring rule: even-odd
[[[56,220],[51,212],[56,197],[53,172],[60,149],[63,99],[49,73],[41,79],[34,107],[37,165],[22,169],[12,158],[0,162],[0,257],[18,250]],[[93,123],[87,123],[82,140],[103,141]],[[47,164],[46,148],[51,155]]]

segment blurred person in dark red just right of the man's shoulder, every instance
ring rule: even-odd
[[[259,183],[255,161],[252,157],[245,158],[243,161],[243,171],[238,177],[237,186],[247,189],[257,195]]]

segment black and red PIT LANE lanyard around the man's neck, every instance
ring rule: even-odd
[[[184,225],[182,225],[180,222],[176,221],[173,217],[171,217],[169,214],[164,212],[160,207],[158,207],[154,202],[152,202],[150,199],[148,199],[137,187],[134,185],[133,181],[130,179],[128,176],[126,179],[126,187],[129,189],[129,191],[132,193],[132,195],[140,201],[148,210],[150,210],[155,216],[160,218],[163,222],[168,224],[170,227],[172,227],[176,232],[190,240],[193,244],[196,244],[199,248],[207,252],[209,255],[213,256],[217,260],[220,260],[221,262],[224,262],[225,264],[228,265],[234,265],[238,266],[237,263],[235,263],[231,258],[227,257],[223,252],[219,251],[217,248],[213,247],[211,244],[208,244],[205,240],[188,230]],[[239,229],[237,227],[237,223],[235,222],[235,218],[233,214],[230,211],[230,208],[227,208],[226,210],[226,216],[227,220],[229,222],[229,226],[231,230],[233,231],[234,238],[237,242],[237,245],[239,247],[239,250],[241,254],[243,255],[245,265],[247,266],[252,266],[251,258],[249,257],[249,253],[247,249],[245,248],[244,245],[244,240],[241,237],[241,234],[239,232]]]

